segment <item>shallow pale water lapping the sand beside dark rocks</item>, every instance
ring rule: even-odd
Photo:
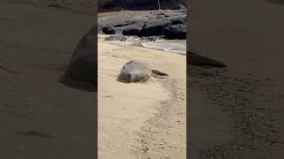
[[[161,40],[143,42],[142,45],[151,49],[162,49],[168,52],[186,54],[186,40]]]

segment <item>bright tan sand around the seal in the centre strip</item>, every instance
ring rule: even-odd
[[[185,158],[185,56],[99,35],[99,158]],[[138,60],[169,79],[122,83],[122,66]]]

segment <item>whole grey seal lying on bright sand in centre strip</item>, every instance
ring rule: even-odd
[[[150,76],[162,79],[169,75],[156,70],[151,70],[145,64],[131,60],[130,62],[123,65],[122,70],[118,76],[118,80],[124,82],[138,82],[146,80]]]

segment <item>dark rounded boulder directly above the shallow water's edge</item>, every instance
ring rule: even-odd
[[[167,39],[186,39],[186,25],[170,25],[163,29]]]

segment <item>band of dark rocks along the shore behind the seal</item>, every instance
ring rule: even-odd
[[[150,11],[136,17],[99,19],[99,34],[123,34],[139,37],[162,36],[186,39],[186,11]]]

